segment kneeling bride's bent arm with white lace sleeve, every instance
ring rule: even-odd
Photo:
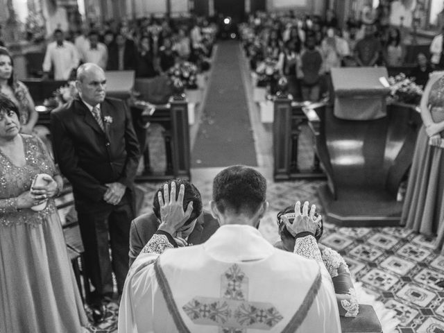
[[[347,263],[339,253],[331,248],[325,248],[322,251],[322,259],[332,277],[339,315],[356,317],[359,305]]]

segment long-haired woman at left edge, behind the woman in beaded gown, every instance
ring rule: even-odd
[[[22,125],[20,131],[24,134],[33,133],[38,119],[33,98],[26,85],[15,79],[14,63],[4,47],[0,47],[0,94],[7,96],[19,108],[19,120]]]

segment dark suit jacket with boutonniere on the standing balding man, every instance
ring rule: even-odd
[[[105,131],[78,98],[51,112],[54,156],[78,212],[105,209],[106,183],[121,182],[131,191],[137,171],[139,144],[125,103],[107,98],[101,113]]]

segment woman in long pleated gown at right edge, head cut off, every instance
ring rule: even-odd
[[[420,103],[423,125],[416,139],[401,224],[421,234],[438,234],[444,253],[444,74],[430,75]]]

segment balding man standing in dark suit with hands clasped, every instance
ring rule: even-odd
[[[51,112],[54,156],[73,188],[85,264],[95,287],[89,303],[96,322],[103,320],[103,300],[112,297],[112,271],[119,294],[128,273],[139,162],[130,113],[123,101],[105,98],[105,85],[103,69],[83,64],[77,70],[79,96]]]

